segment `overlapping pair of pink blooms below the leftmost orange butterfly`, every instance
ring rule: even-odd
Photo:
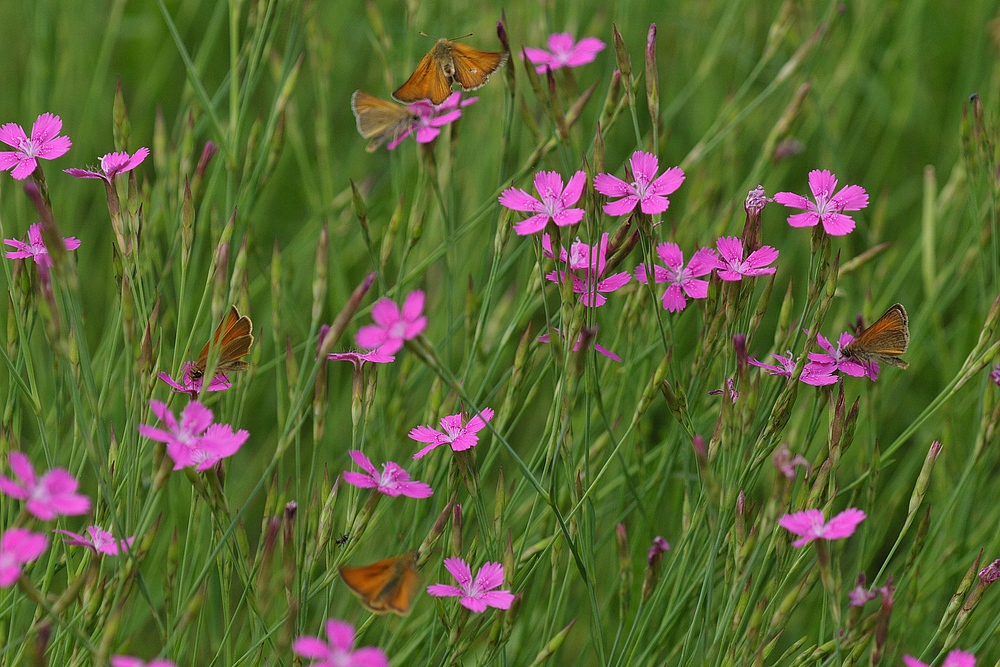
[[[242,429],[233,433],[229,424],[213,424],[212,411],[198,401],[191,401],[184,407],[180,423],[166,403],[153,399],[149,407],[166,424],[167,430],[139,424],[139,434],[167,445],[167,454],[174,460],[174,470],[188,466],[207,470],[220,459],[235,454],[250,437]]]

